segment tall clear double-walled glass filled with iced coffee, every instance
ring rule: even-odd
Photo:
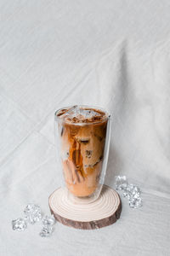
[[[55,131],[69,198],[81,204],[97,200],[105,181],[111,115],[90,106],[60,108]]]

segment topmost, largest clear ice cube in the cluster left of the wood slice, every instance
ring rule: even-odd
[[[35,224],[42,219],[42,212],[39,206],[34,204],[28,204],[24,210],[24,217],[31,224]]]

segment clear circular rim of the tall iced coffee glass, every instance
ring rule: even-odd
[[[59,113],[60,110],[62,109],[66,109],[66,108],[72,108],[74,106],[77,106],[77,107],[82,107],[82,108],[92,108],[92,109],[96,109],[96,110],[100,110],[102,112],[105,113],[105,119],[102,119],[102,120],[98,120],[98,121],[95,121],[95,122],[80,122],[80,123],[71,123],[70,121],[65,121],[63,120],[62,118],[59,118],[59,116],[57,116],[57,113]],[[56,121],[63,121],[65,122],[66,124],[69,124],[69,125],[94,125],[94,124],[101,124],[101,123],[104,123],[107,119],[110,119],[111,118],[111,114],[108,113],[104,108],[100,108],[98,106],[91,106],[91,105],[71,105],[71,106],[67,106],[67,107],[62,107],[62,108],[59,108],[58,110],[56,110],[54,112],[54,118]]]

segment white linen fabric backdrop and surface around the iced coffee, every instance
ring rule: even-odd
[[[169,1],[0,1],[0,255],[170,255]],[[111,113],[105,183],[117,174],[142,190],[122,198],[116,224],[53,236],[11,220],[61,185],[54,110],[71,104]]]

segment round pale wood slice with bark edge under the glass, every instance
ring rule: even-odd
[[[49,208],[60,223],[82,230],[95,230],[111,225],[120,218],[122,204],[114,189],[104,185],[99,199],[89,204],[75,204],[67,190],[56,189],[49,196]]]

